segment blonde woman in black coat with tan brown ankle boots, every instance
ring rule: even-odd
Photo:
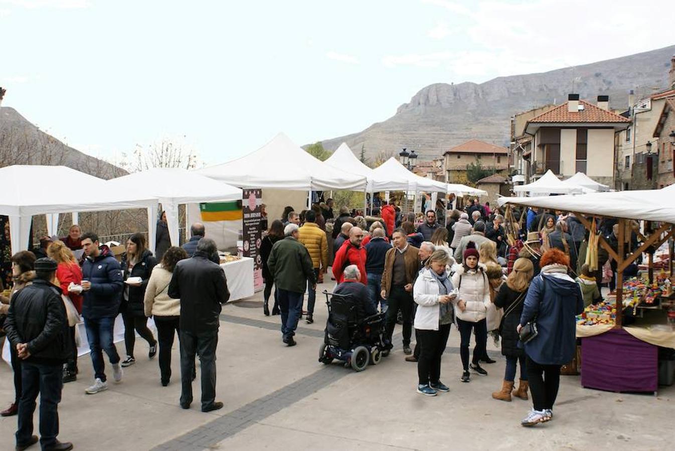
[[[518,348],[520,337],[516,328],[520,321],[523,301],[534,274],[535,267],[532,262],[527,258],[518,258],[514,262],[511,274],[506,278],[506,283],[502,284],[495,298],[495,307],[504,309],[499,334],[502,336],[502,355],[506,357],[506,371],[504,371],[502,390],[494,392],[492,397],[502,401],[510,401],[512,394],[524,400],[528,399],[527,365],[524,352]],[[520,363],[520,384],[518,384],[518,389],[514,390],[516,363]]]

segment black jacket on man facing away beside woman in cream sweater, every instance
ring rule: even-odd
[[[180,330],[218,330],[221,304],[229,299],[227,279],[221,266],[209,255],[196,251],[192,258],[176,264],[169,282],[169,297],[180,299]]]

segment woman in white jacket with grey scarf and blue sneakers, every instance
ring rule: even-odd
[[[449,260],[443,249],[434,251],[412,288],[412,297],[417,303],[415,336],[421,349],[417,361],[417,392],[425,396],[450,391],[440,381],[441,355],[450,336],[454,317],[452,301],[456,297],[445,269]]]

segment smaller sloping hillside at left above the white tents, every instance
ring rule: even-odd
[[[124,169],[63,144],[14,108],[0,107],[0,167],[11,164],[61,165],[102,179],[126,174]]]

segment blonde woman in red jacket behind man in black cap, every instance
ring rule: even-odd
[[[59,287],[64,296],[67,296],[77,309],[82,313],[82,295],[77,291],[68,291],[71,283],[75,285],[82,284],[82,269],[75,260],[75,255],[70,247],[63,241],[54,241],[47,247],[47,255],[58,264],[56,268],[56,278],[59,281]],[[75,328],[77,324],[70,327],[70,345],[72,354],[68,357],[68,362],[63,367],[63,384],[77,380],[78,374],[78,347],[75,341]]]

